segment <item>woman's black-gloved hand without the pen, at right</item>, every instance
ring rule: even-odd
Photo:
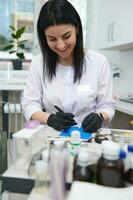
[[[98,113],[90,113],[84,118],[82,128],[85,132],[93,133],[101,128],[102,122],[103,118]]]

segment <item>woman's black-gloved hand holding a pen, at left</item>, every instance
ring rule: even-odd
[[[47,124],[57,131],[62,131],[70,126],[77,124],[73,118],[74,115],[72,113],[58,111],[56,114],[51,114],[48,117]]]

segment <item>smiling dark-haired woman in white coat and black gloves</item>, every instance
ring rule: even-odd
[[[84,51],[80,17],[67,0],[49,0],[37,22],[41,54],[33,58],[22,108],[27,120],[56,130],[96,132],[114,115],[106,58]],[[58,107],[56,107],[56,106]]]

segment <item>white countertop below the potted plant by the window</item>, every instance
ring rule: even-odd
[[[1,70],[0,90],[24,90],[28,70]]]

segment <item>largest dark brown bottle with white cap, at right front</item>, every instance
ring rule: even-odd
[[[124,163],[119,158],[119,146],[112,141],[104,141],[103,154],[97,164],[97,183],[110,187],[124,187]]]

